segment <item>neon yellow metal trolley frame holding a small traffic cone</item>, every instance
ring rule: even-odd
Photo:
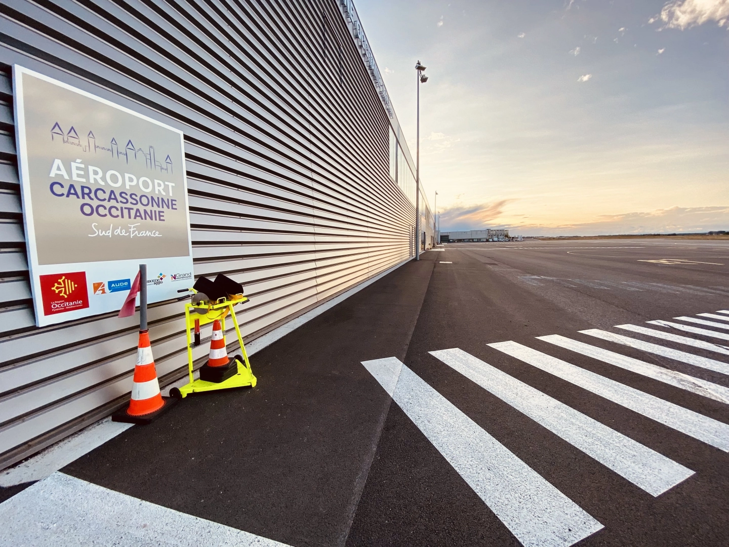
[[[256,386],[256,377],[253,376],[251,363],[246,353],[246,346],[243,345],[241,327],[238,327],[238,319],[235,318],[235,311],[233,310],[235,304],[242,304],[243,302],[248,302],[248,298],[242,296],[235,300],[221,299],[217,303],[210,304],[194,304],[190,302],[185,304],[184,320],[185,325],[187,325],[187,365],[190,370],[190,383],[179,388],[179,394],[183,398],[187,397],[190,393],[214,391],[215,389],[229,389],[231,387]],[[204,310],[205,313],[200,314],[197,310]],[[238,373],[219,384],[211,381],[195,380],[195,377],[192,376],[192,337],[190,336],[190,330],[195,329],[195,319],[200,321],[200,327],[214,322],[216,319],[220,319],[223,328],[223,340],[225,340],[225,316],[229,312],[231,319],[233,319],[233,325],[235,325],[235,334],[238,335],[238,344],[241,344],[241,354],[243,355],[243,362],[235,359],[235,362],[238,364]]]

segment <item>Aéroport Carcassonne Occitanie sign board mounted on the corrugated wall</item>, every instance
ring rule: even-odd
[[[36,325],[120,309],[140,263],[150,303],[190,287],[182,131],[21,66],[13,82]]]

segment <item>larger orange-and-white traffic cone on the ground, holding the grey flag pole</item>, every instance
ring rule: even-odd
[[[139,332],[137,346],[137,362],[134,367],[132,397],[129,408],[122,409],[112,415],[114,422],[148,424],[162,414],[174,399],[160,394],[160,383],[157,381],[155,359],[152,357],[152,346],[149,344],[149,331]]]

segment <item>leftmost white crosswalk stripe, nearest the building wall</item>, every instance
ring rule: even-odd
[[[523,546],[567,547],[602,528],[395,357],[362,365]]]

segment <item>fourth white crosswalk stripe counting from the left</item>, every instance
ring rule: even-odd
[[[590,334],[584,331],[585,334]],[[608,333],[610,334],[610,333]],[[599,338],[609,339],[607,337],[600,336]],[[662,381],[665,384],[669,384],[674,387],[679,387],[709,397],[709,399],[718,400],[721,403],[729,404],[729,388],[714,384],[708,380],[700,378],[694,378],[688,374],[684,374],[677,371],[671,371],[668,368],[659,367],[653,365],[650,362],[641,361],[628,357],[627,355],[609,352],[607,349],[602,349],[596,346],[590,346],[583,342],[572,340],[572,338],[565,338],[558,334],[550,336],[538,336],[537,340],[544,340],[555,346],[560,346],[566,349],[571,349],[573,352],[587,355],[593,359],[608,362],[610,365],[624,368],[626,371],[631,371],[642,376],[647,376],[654,380]]]

